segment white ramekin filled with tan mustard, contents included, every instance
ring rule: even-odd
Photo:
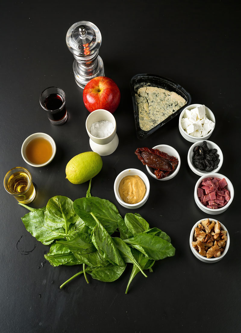
[[[129,209],[136,209],[147,201],[150,183],[144,172],[138,169],[126,169],[116,177],[114,192],[119,204]]]

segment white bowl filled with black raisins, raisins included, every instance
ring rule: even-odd
[[[223,164],[223,153],[212,141],[195,142],[187,153],[190,169],[199,176],[210,172],[218,172]]]

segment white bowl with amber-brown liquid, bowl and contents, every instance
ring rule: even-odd
[[[30,166],[46,166],[55,157],[56,144],[50,135],[34,133],[24,140],[21,153]]]

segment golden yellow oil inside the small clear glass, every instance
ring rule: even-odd
[[[35,192],[34,185],[33,183],[30,185],[30,182],[31,180],[27,173],[18,171],[9,177],[7,187],[9,192],[13,194],[18,201],[25,203],[25,201],[28,201],[33,195],[33,192]],[[26,190],[27,192],[25,192]]]

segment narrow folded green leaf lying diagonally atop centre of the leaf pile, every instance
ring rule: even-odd
[[[123,266],[124,261],[115,246],[113,238],[108,234],[103,225],[95,217],[93,213],[90,213],[95,220],[95,226],[92,228],[91,240],[96,247],[97,251],[103,255],[104,258],[109,260],[112,264]]]

